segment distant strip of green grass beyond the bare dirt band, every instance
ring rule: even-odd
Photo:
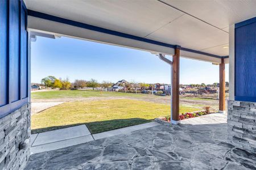
[[[131,94],[124,92],[106,92],[106,91],[89,91],[89,90],[58,90],[32,92],[32,99],[56,99],[56,98],[76,98],[76,97],[115,97],[115,96],[132,96],[141,97],[146,94]]]

